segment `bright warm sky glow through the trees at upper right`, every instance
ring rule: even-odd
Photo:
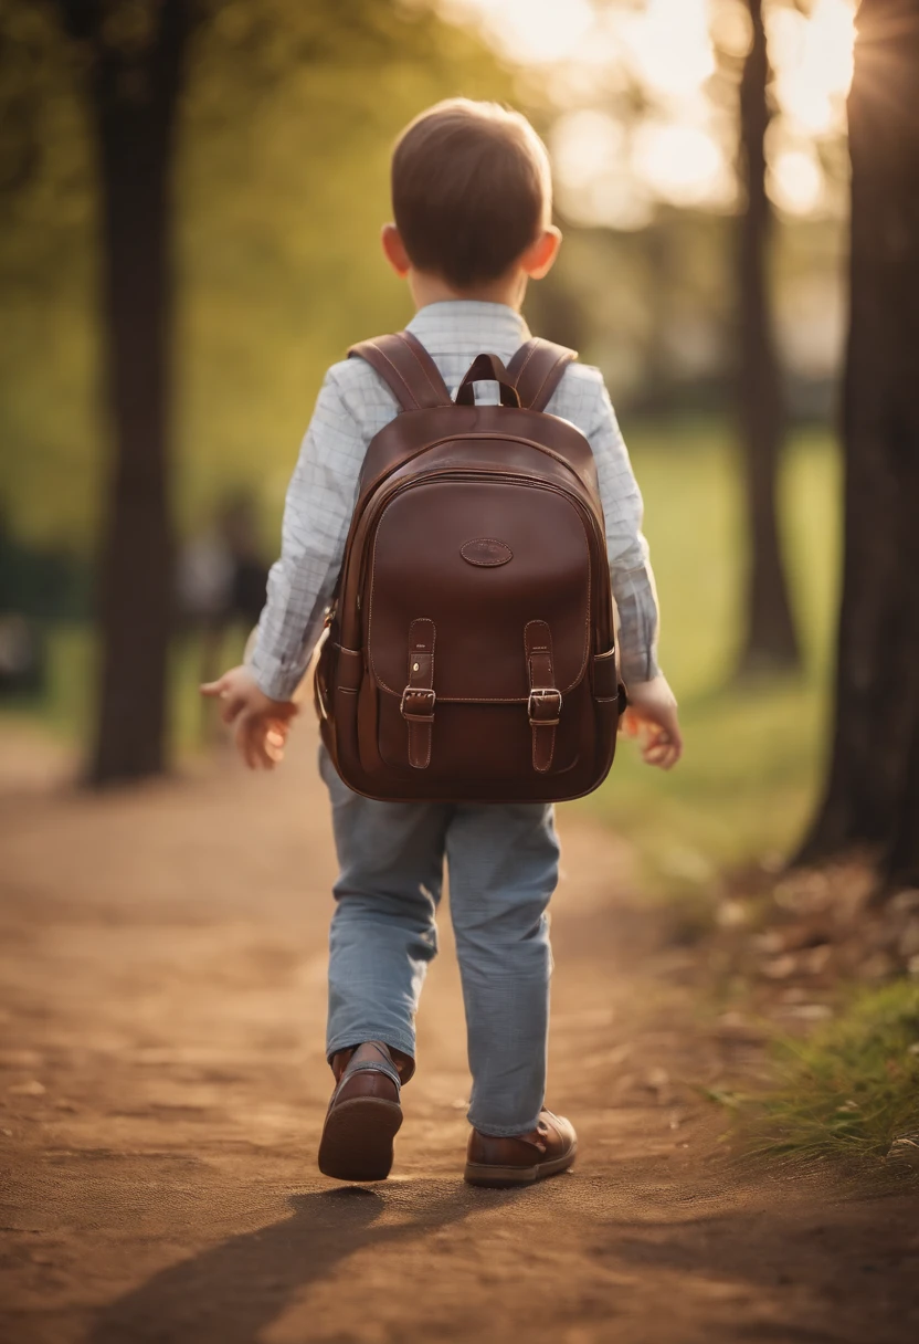
[[[638,228],[656,200],[726,208],[735,199],[734,140],[709,95],[717,40],[743,56],[742,0],[441,0],[476,19],[509,58],[535,67],[559,109],[551,136],[559,198],[570,218]],[[856,0],[766,7],[777,117],[770,194],[790,214],[825,208],[814,142],[845,130]],[[626,133],[603,103],[623,82],[648,112]]]

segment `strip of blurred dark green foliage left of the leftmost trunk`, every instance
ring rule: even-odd
[[[50,4],[0,0],[0,509],[83,550],[98,516],[95,210],[81,52]]]

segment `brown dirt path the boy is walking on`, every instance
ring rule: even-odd
[[[739,1169],[695,1085],[755,1046],[630,899],[627,848],[563,818],[550,1105],[578,1168],[460,1179],[449,939],[394,1177],[314,1167],[333,860],[309,732],[107,800],[0,743],[4,1344],[919,1339],[916,1204]]]

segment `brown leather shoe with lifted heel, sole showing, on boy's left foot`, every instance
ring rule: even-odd
[[[343,1050],[332,1060],[337,1079],[322,1128],[318,1168],[336,1180],[386,1180],[392,1140],[402,1125],[399,1068],[382,1040]]]

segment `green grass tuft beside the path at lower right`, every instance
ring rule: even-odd
[[[880,1159],[918,1134],[919,984],[863,992],[807,1040],[783,1042],[777,1089],[739,1114],[754,1150],[801,1159]]]

